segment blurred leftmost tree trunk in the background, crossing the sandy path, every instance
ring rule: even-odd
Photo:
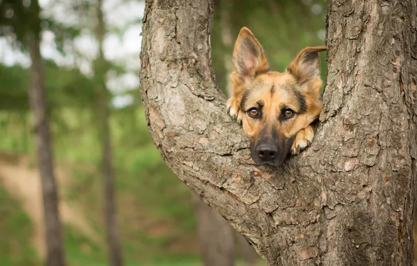
[[[32,1],[31,8],[34,8],[37,14],[40,13],[38,1]],[[46,265],[64,266],[65,254],[59,221],[58,189],[55,183],[52,139],[47,112],[48,101],[44,85],[45,72],[40,51],[40,31],[29,32],[28,43],[31,58],[29,104],[34,119],[36,155],[41,175],[47,248]]]

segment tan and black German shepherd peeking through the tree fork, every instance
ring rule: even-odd
[[[264,50],[243,27],[233,51],[232,97],[227,113],[250,139],[257,164],[281,164],[310,146],[322,110],[320,57],[325,46],[299,52],[284,73],[269,71]]]

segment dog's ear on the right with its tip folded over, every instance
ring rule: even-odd
[[[325,50],[327,50],[326,46],[304,48],[287,67],[287,72],[294,76],[300,84],[320,78],[321,70],[318,52]]]

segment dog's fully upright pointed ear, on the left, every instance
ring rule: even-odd
[[[234,45],[233,69],[241,79],[254,78],[269,70],[264,49],[246,27],[241,29]]]

